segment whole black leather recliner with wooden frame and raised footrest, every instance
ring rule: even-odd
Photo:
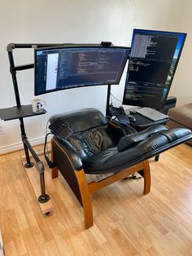
[[[151,126],[137,132],[107,120],[95,108],[85,108],[55,115],[68,121],[73,133],[66,138],[54,136],[51,142],[52,178],[63,174],[85,215],[85,227],[93,225],[90,194],[98,189],[139,172],[144,178],[144,193],[150,192],[149,159],[192,138],[188,129]],[[111,174],[99,181],[87,182],[85,174]]]

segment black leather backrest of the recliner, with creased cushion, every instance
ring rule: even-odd
[[[91,157],[107,148],[116,147],[121,137],[126,135],[123,128],[110,126],[106,117],[96,108],[83,108],[51,117],[61,117],[68,121],[73,134],[68,142],[76,149],[81,159]]]

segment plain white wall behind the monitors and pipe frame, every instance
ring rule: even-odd
[[[185,1],[186,5],[188,2],[190,0]],[[15,105],[6,51],[8,43],[111,41],[116,45],[130,46],[134,28],[191,32],[190,11],[185,11],[185,5],[180,0],[1,0],[0,108]],[[190,35],[187,40],[171,91],[180,104],[191,101],[188,79]],[[33,50],[15,50],[13,53],[16,65],[33,63]],[[124,77],[120,86],[112,87],[112,93],[120,100]],[[30,104],[33,99],[33,70],[18,73],[18,82],[21,103]],[[46,100],[47,113],[41,117],[24,119],[28,139],[41,140],[45,135],[46,121],[54,113],[86,107],[95,107],[104,113],[106,96],[107,88],[101,86],[42,95],[41,98]],[[5,130],[5,134],[0,135],[0,153],[6,152],[7,148],[18,148],[19,121],[0,121],[0,126]]]

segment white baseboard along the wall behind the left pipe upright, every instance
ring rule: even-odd
[[[37,145],[45,142],[45,137],[40,137],[40,138],[36,138],[36,139],[28,139],[28,141],[31,143],[32,146],[37,146]],[[0,156],[10,153],[10,152],[22,150],[23,148],[24,148],[24,145],[22,142],[2,146],[2,147],[0,147]]]

